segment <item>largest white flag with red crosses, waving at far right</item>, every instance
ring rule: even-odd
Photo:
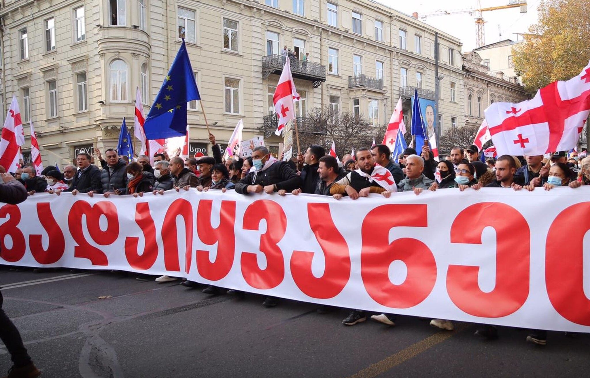
[[[543,155],[578,143],[590,113],[590,63],[567,82],[553,82],[521,103],[495,102],[486,120],[499,155]]]

